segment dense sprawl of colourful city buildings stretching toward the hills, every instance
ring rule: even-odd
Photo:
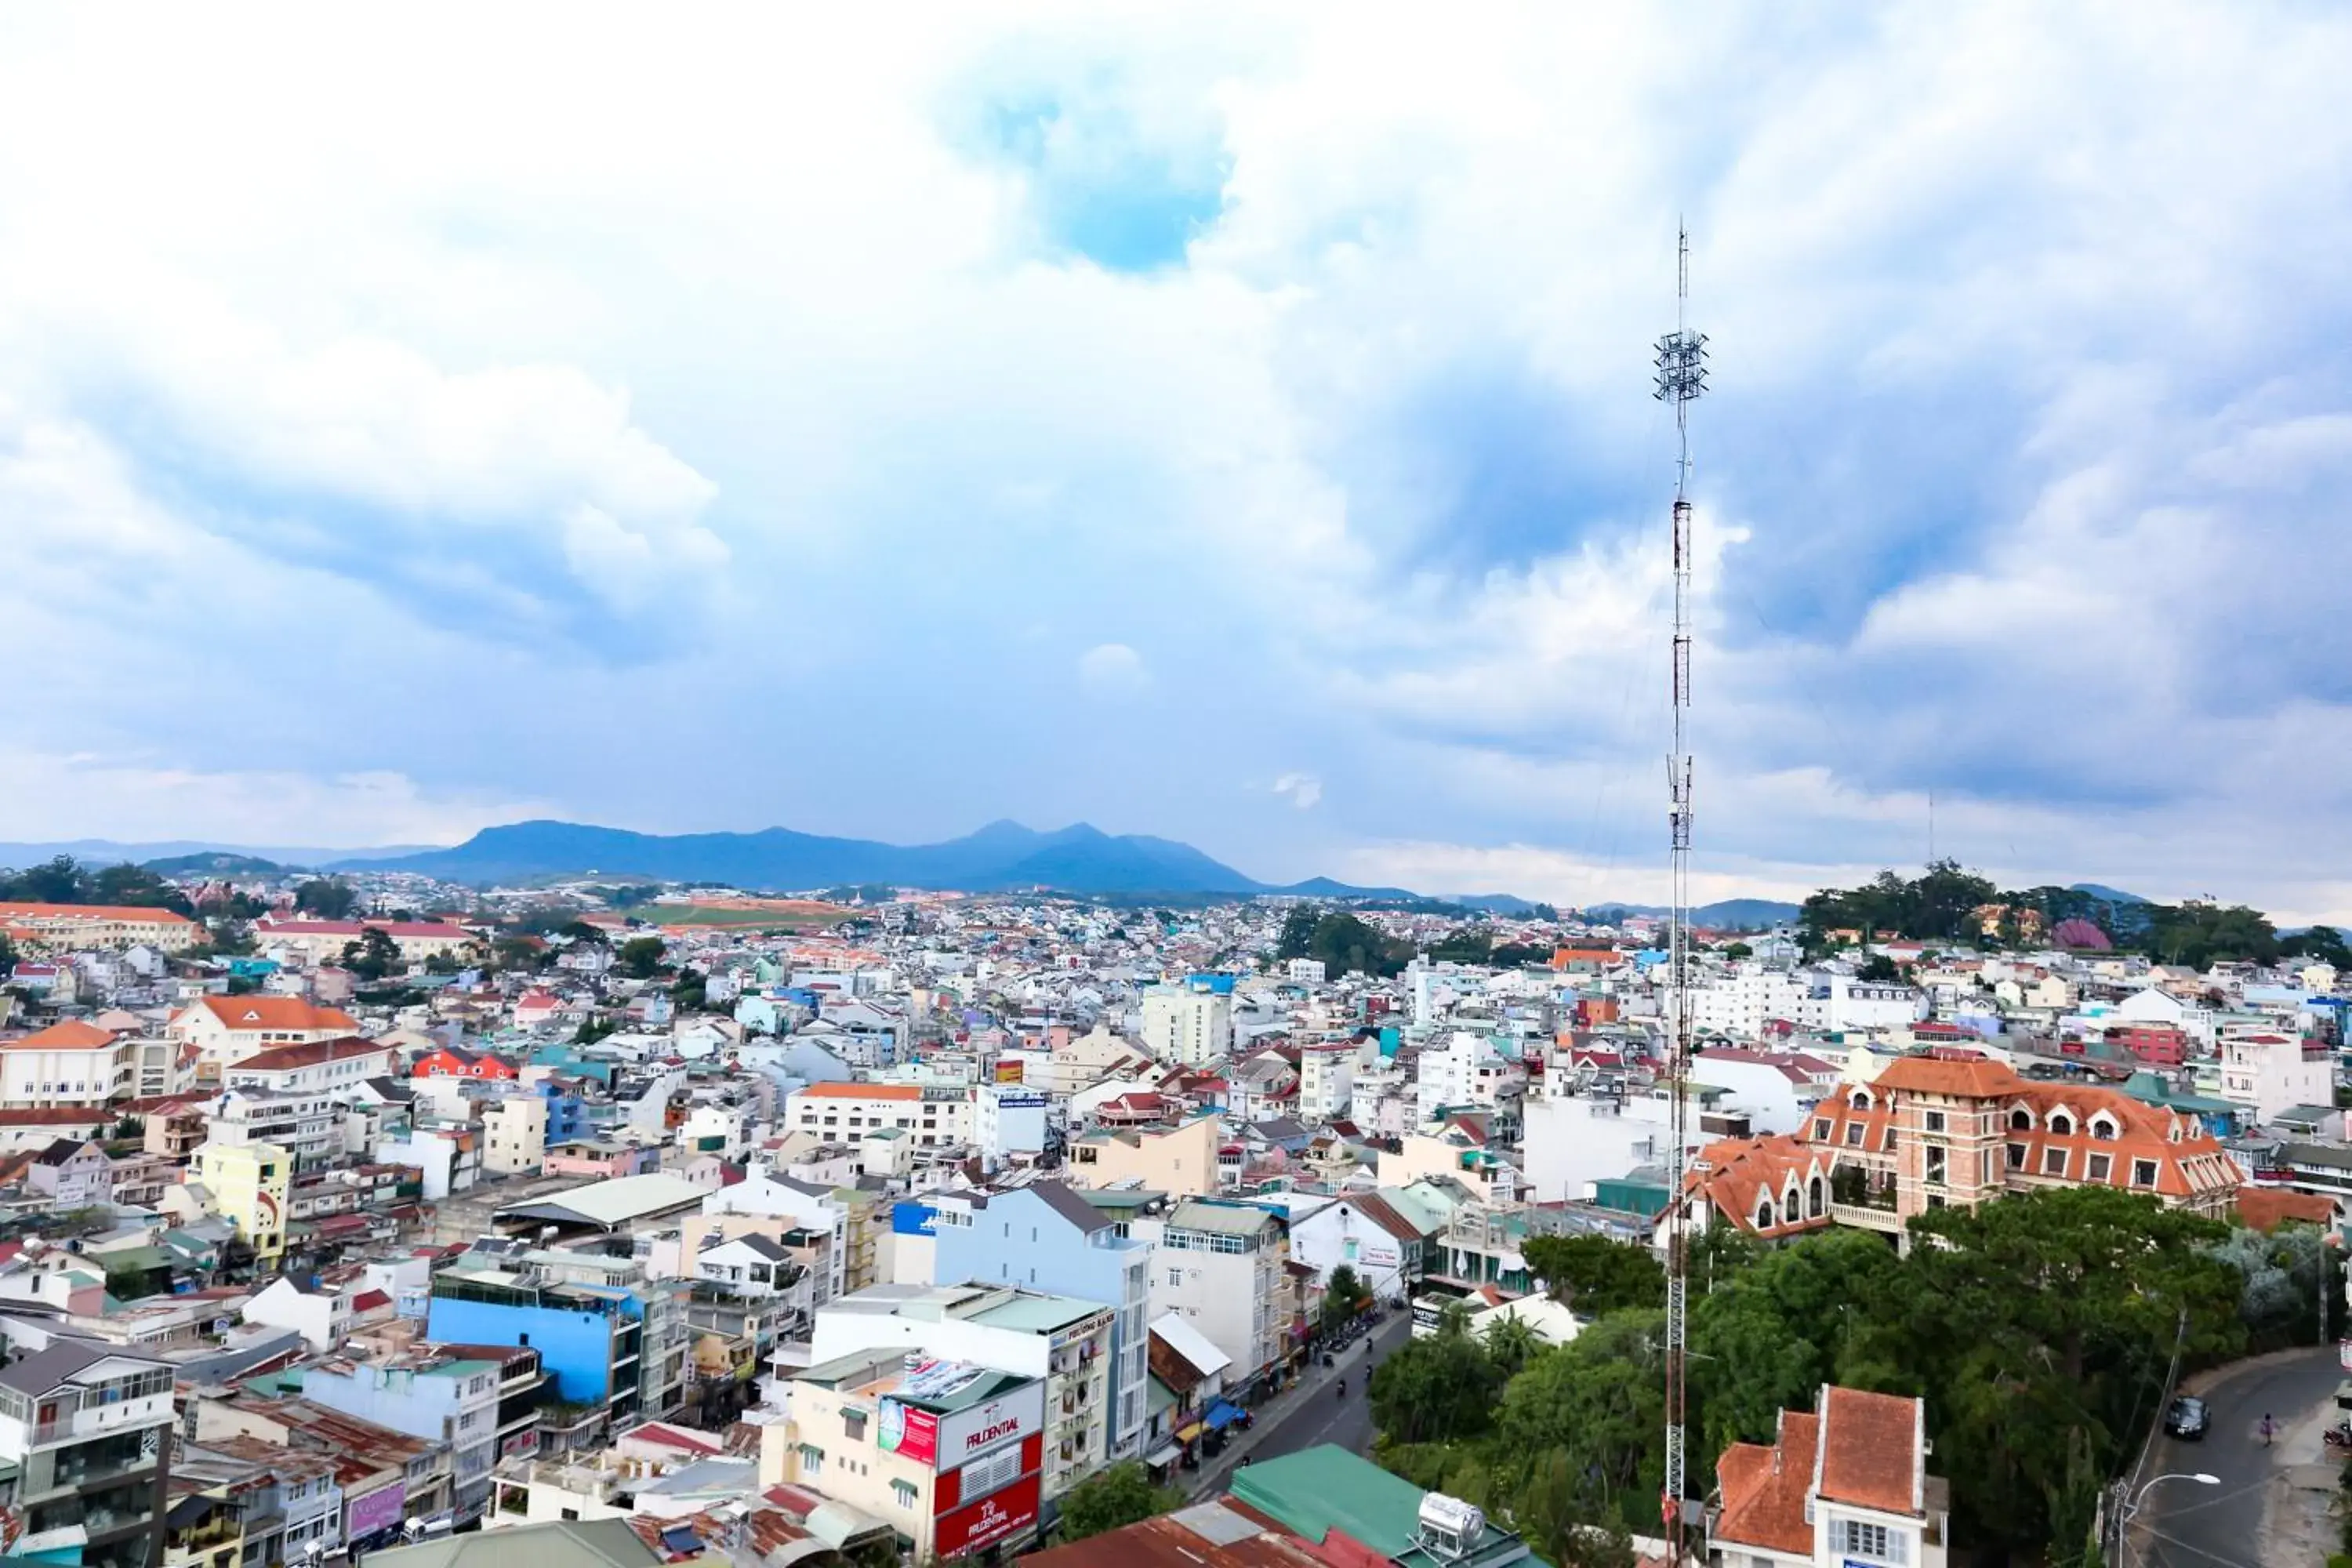
[[[1341,1274],[1416,1333],[1458,1302],[1562,1342],[1583,1319],[1529,1244],[1656,1248],[1675,1206],[1900,1248],[2042,1187],[2265,1227],[2352,1194],[2352,1001],[2317,959],[1703,933],[1675,1084],[1644,917],[1479,917],[1496,964],[1430,957],[1461,910],[360,877],[320,919],[318,886],[0,907],[16,1554],[228,1568],[628,1521],[673,1561],[746,1528],[1011,1556],[1089,1476],[1185,1486],[1312,1380]],[[1287,954],[1317,919],[1411,957]],[[1917,1420],[1825,1389],[1780,1450],[1726,1450],[1712,1542],[1755,1556],[1722,1561],[1853,1556],[1811,1505]],[[1256,1495],[1235,1472],[1218,1507],[1279,1533],[1277,1465],[1343,1458],[1270,1460]],[[1766,1483],[1788,1465],[1828,1490]],[[1933,1488],[1898,1481],[1853,1528],[1938,1561]],[[1223,1528],[1136,1528],[1195,1526]]]

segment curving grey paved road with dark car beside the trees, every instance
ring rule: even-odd
[[[2324,1554],[2284,1535],[2265,1540],[2272,1523],[2293,1509],[2296,1486],[2312,1467],[2331,1465],[2319,1432],[2336,1418],[2336,1385],[2343,1380],[2336,1349],[2303,1349],[2263,1356],[2232,1368],[2204,1389],[2213,1429],[2199,1443],[2157,1439],[2147,1476],[2166,1472],[2213,1474],[2220,1486],[2166,1481],[2147,1493],[2136,1530],[2131,1568],[2317,1568]],[[2263,1415],[2277,1425],[2263,1446]]]

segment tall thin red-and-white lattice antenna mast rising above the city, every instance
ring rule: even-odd
[[[1665,1077],[1672,1093],[1672,1131],[1665,1157],[1665,1544],[1668,1566],[1691,1556],[1693,1533],[1684,1526],[1686,1413],[1684,1387],[1689,1333],[1689,1206],[1682,1192],[1689,1171],[1689,1077],[1691,1077],[1691,404],[1708,390],[1708,339],[1691,331],[1691,230],[1675,233],[1675,331],[1658,339],[1658,400],[1675,404],[1675,750],[1665,757],[1668,827],[1672,832],[1672,914],[1668,924]]]

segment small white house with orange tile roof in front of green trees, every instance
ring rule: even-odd
[[[1950,1493],[1926,1474],[1926,1403],[1825,1385],[1818,1410],[1780,1410],[1771,1443],[1715,1462],[1708,1530],[1724,1561],[1943,1568]]]

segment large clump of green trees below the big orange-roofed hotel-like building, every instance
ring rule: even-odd
[[[1653,1288],[1637,1269],[1621,1279],[1599,1246],[1616,1244],[1543,1237],[1526,1260],[1581,1281],[1581,1307]],[[1712,1481],[1726,1443],[1769,1443],[1780,1410],[1811,1410],[1825,1382],[1924,1396],[1957,1528],[2072,1563],[2098,1486],[2157,1420],[2176,1349],[2197,1366],[2251,1335],[2307,1342],[2340,1269],[2317,1232],[2253,1237],[2112,1187],[1931,1211],[1907,1253],[1860,1229],[1776,1248],[1710,1232],[1691,1262],[1691,1481]],[[1611,1530],[1656,1528],[1653,1302],[1531,1354],[1461,1333],[1416,1340],[1374,1373],[1376,1458],[1564,1542],[1559,1561]]]

